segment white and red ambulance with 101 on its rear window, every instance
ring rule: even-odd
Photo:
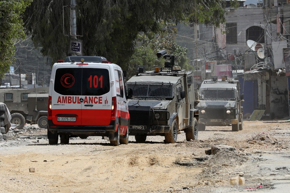
[[[52,66],[48,94],[49,144],[70,137],[108,137],[128,144],[130,116],[122,69],[102,56],[69,56]],[[127,94],[126,94],[127,93]]]

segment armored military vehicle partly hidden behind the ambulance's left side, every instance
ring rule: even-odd
[[[40,123],[42,124],[38,124],[38,126],[46,128],[44,127],[45,117],[41,116],[45,116],[45,114],[47,116],[48,97],[44,97],[42,94],[48,93],[48,88],[49,87],[37,87],[32,89],[0,89],[0,96],[2,96],[0,97],[0,102],[5,103],[9,109],[11,114],[10,122],[17,125],[15,128],[22,129],[26,122],[35,124],[38,122],[39,118],[41,118],[42,121]],[[45,100],[44,98],[47,99]],[[46,111],[46,113],[41,112],[41,116],[35,117],[33,114],[38,113],[39,111]],[[32,114],[30,115],[30,113]],[[31,117],[34,118],[31,119]]]

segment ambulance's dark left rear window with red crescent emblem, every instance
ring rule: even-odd
[[[59,68],[55,72],[55,92],[61,95],[81,95],[81,68]]]

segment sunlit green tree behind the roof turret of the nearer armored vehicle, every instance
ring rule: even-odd
[[[154,66],[164,67],[165,60],[158,59],[156,53],[166,50],[167,54],[175,56],[175,65],[189,69],[186,57],[187,49],[177,45],[175,37],[177,28],[174,23],[161,21],[159,30],[155,33],[140,33],[136,39],[136,48],[130,60],[126,62],[127,78],[135,75],[137,66],[145,66],[145,70],[153,70]]]

